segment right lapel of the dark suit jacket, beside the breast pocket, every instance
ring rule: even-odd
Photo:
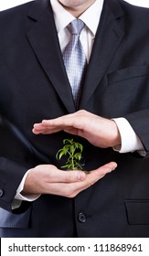
[[[90,101],[90,97],[96,88],[101,86],[100,81],[122,41],[124,31],[117,21],[117,18],[121,16],[123,16],[122,7],[118,1],[105,0],[100,26],[98,27],[90,56],[90,63],[80,101],[80,109],[85,108],[87,101]]]

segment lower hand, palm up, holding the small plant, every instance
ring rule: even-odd
[[[103,176],[116,168],[116,163],[102,165],[89,174],[83,171],[62,171],[54,165],[37,165],[31,169],[25,181],[24,195],[51,194],[62,197],[75,197]]]

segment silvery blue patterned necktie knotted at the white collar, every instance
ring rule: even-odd
[[[76,107],[79,106],[87,66],[86,56],[80,43],[80,33],[84,26],[85,24],[80,19],[75,19],[70,23],[71,38],[63,52],[64,64]]]

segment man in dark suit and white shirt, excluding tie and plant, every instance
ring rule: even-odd
[[[77,109],[62,58],[75,18],[88,63]],[[1,237],[149,236],[148,24],[122,0],[0,14]],[[59,170],[72,137],[90,174]]]

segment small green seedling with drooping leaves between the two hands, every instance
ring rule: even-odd
[[[64,146],[59,149],[56,158],[61,159],[62,156],[68,155],[66,165],[62,165],[61,168],[68,170],[81,170],[80,160],[82,158],[83,146],[82,144],[75,143],[73,139],[63,140]]]

